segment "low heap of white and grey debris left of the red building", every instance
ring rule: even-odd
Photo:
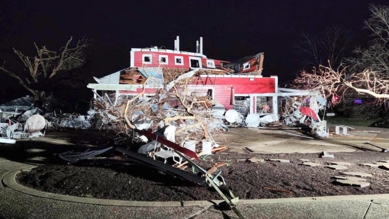
[[[47,98],[44,108],[53,109],[54,106],[61,106],[61,101]],[[89,110],[87,115],[62,113],[61,110],[59,113],[56,110],[43,113],[39,108],[34,108],[32,98],[26,96],[0,105],[0,142],[15,143],[15,139],[44,136],[47,130],[91,129],[96,127],[94,125],[97,122],[100,122],[101,126],[107,124],[108,120],[104,117],[104,113],[95,110]]]

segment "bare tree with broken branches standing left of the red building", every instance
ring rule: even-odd
[[[34,43],[37,55],[27,56],[21,51],[14,49],[15,54],[23,62],[24,72],[15,72],[3,66],[0,69],[7,75],[19,81],[19,84],[29,91],[34,100],[34,105],[43,109],[43,101],[50,83],[59,78],[66,71],[81,67],[85,62],[84,49],[89,46],[90,40],[82,38],[72,46],[73,37],[59,50],[49,50],[45,46],[38,47]]]

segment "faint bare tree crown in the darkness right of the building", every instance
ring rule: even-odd
[[[317,36],[303,33],[302,38],[297,50],[304,58],[303,68],[324,65],[327,60],[338,66],[350,43],[349,34],[339,27],[327,28]]]

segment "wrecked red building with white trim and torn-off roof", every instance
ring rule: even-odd
[[[196,52],[179,50],[179,37],[175,49],[132,48],[130,66],[103,78],[87,87],[98,96],[109,97],[117,103],[141,93],[148,74],[155,80],[144,86],[144,96],[153,96],[179,76],[190,75],[194,81],[188,91],[199,97],[208,96],[213,105],[221,104],[226,110],[235,109],[241,114],[278,114],[289,99],[308,96],[309,92],[278,88],[278,77],[263,77],[264,53],[223,61],[203,54],[203,43],[197,41]]]

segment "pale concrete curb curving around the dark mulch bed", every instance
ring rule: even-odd
[[[28,169],[33,169],[31,167]],[[26,169],[26,168],[23,168]],[[3,177],[3,183],[9,188],[28,195],[41,198],[48,198],[60,201],[77,202],[84,204],[114,205],[114,206],[132,206],[132,207],[186,207],[186,206],[209,206],[219,204],[223,200],[203,200],[203,201],[123,201],[97,198],[84,198],[70,195],[61,195],[50,192],[42,192],[27,188],[18,184],[15,177],[21,170],[15,170],[7,173]],[[275,198],[275,199],[240,199],[238,204],[270,204],[270,203],[296,203],[296,202],[317,202],[317,201],[343,201],[343,200],[367,200],[367,199],[389,199],[389,194],[377,195],[338,195],[322,197],[302,197],[302,198]]]

